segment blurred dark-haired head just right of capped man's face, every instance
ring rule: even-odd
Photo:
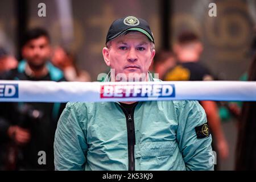
[[[158,74],[160,80],[164,80],[166,72],[176,66],[174,54],[171,51],[162,50],[155,53],[154,61],[150,70]]]

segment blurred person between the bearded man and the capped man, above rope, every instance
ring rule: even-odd
[[[90,81],[90,75],[86,71],[77,68],[75,56],[62,47],[53,51],[52,64],[63,71],[67,81]]]

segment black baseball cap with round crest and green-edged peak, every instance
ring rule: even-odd
[[[106,36],[106,43],[109,42],[109,40],[117,38],[126,31],[142,32],[148,39],[150,39],[151,42],[154,43],[154,36],[146,20],[136,18],[135,16],[126,16],[125,18],[114,20],[109,27],[108,35]]]

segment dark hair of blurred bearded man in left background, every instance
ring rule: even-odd
[[[24,46],[30,40],[37,39],[40,36],[45,36],[50,42],[48,32],[44,28],[36,27],[36,28],[32,28],[32,29],[25,32],[24,38],[23,38],[23,41],[22,41],[22,46]]]

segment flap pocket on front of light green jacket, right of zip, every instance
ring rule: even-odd
[[[168,170],[177,144],[175,141],[145,142],[135,145],[137,170]],[[172,162],[171,162],[172,163]]]

